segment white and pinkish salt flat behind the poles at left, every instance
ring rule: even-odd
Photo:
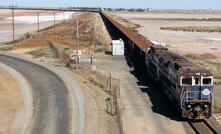
[[[61,15],[60,12],[55,12],[55,13],[57,15],[55,17],[55,19],[57,19],[55,23],[61,22],[61,20],[63,20],[63,14]],[[15,38],[18,38],[25,33],[36,32],[38,30],[36,14],[37,14],[36,11],[26,11],[26,12],[23,11],[23,12],[15,13]],[[39,11],[39,14],[40,14],[40,17],[39,17],[40,29],[43,29],[45,27],[48,27],[54,24],[54,21],[52,21],[54,12]],[[25,16],[27,18],[25,18]],[[36,17],[33,17],[33,16],[36,16]],[[0,37],[0,43],[12,40],[12,24],[11,24],[10,17],[11,17],[11,13],[0,13],[0,34],[4,34],[4,36]],[[20,18],[16,18],[16,17],[20,17]],[[67,17],[68,15],[66,13],[65,18],[67,19]]]

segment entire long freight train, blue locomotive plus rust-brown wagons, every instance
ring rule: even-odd
[[[150,76],[165,92],[172,104],[187,119],[205,119],[212,113],[213,74],[187,59],[154,45],[145,37],[130,31],[108,15],[100,12],[109,32],[128,42],[129,55],[138,56]],[[159,44],[159,43],[157,43]],[[132,52],[132,53],[130,53]]]

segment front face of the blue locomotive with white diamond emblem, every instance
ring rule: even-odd
[[[183,117],[209,118],[212,108],[213,76],[193,75],[180,77],[181,108]]]

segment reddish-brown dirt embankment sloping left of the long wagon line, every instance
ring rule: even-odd
[[[82,13],[65,24],[41,32],[40,35],[31,34],[31,38],[19,44],[2,48],[2,50],[34,49],[48,46],[48,41],[68,46],[77,47],[77,20],[79,31],[79,49],[90,49],[95,52],[108,50],[111,41],[108,32],[102,25],[99,14]]]

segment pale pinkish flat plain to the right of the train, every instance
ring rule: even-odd
[[[219,18],[221,15],[220,12],[115,12],[113,14],[139,24],[141,27],[137,30],[140,34],[149,40],[163,41],[171,51],[175,51],[181,55],[188,53],[211,53],[221,59],[221,33],[166,31],[160,29],[160,27],[167,26],[221,26],[221,21],[169,20],[174,18]]]

